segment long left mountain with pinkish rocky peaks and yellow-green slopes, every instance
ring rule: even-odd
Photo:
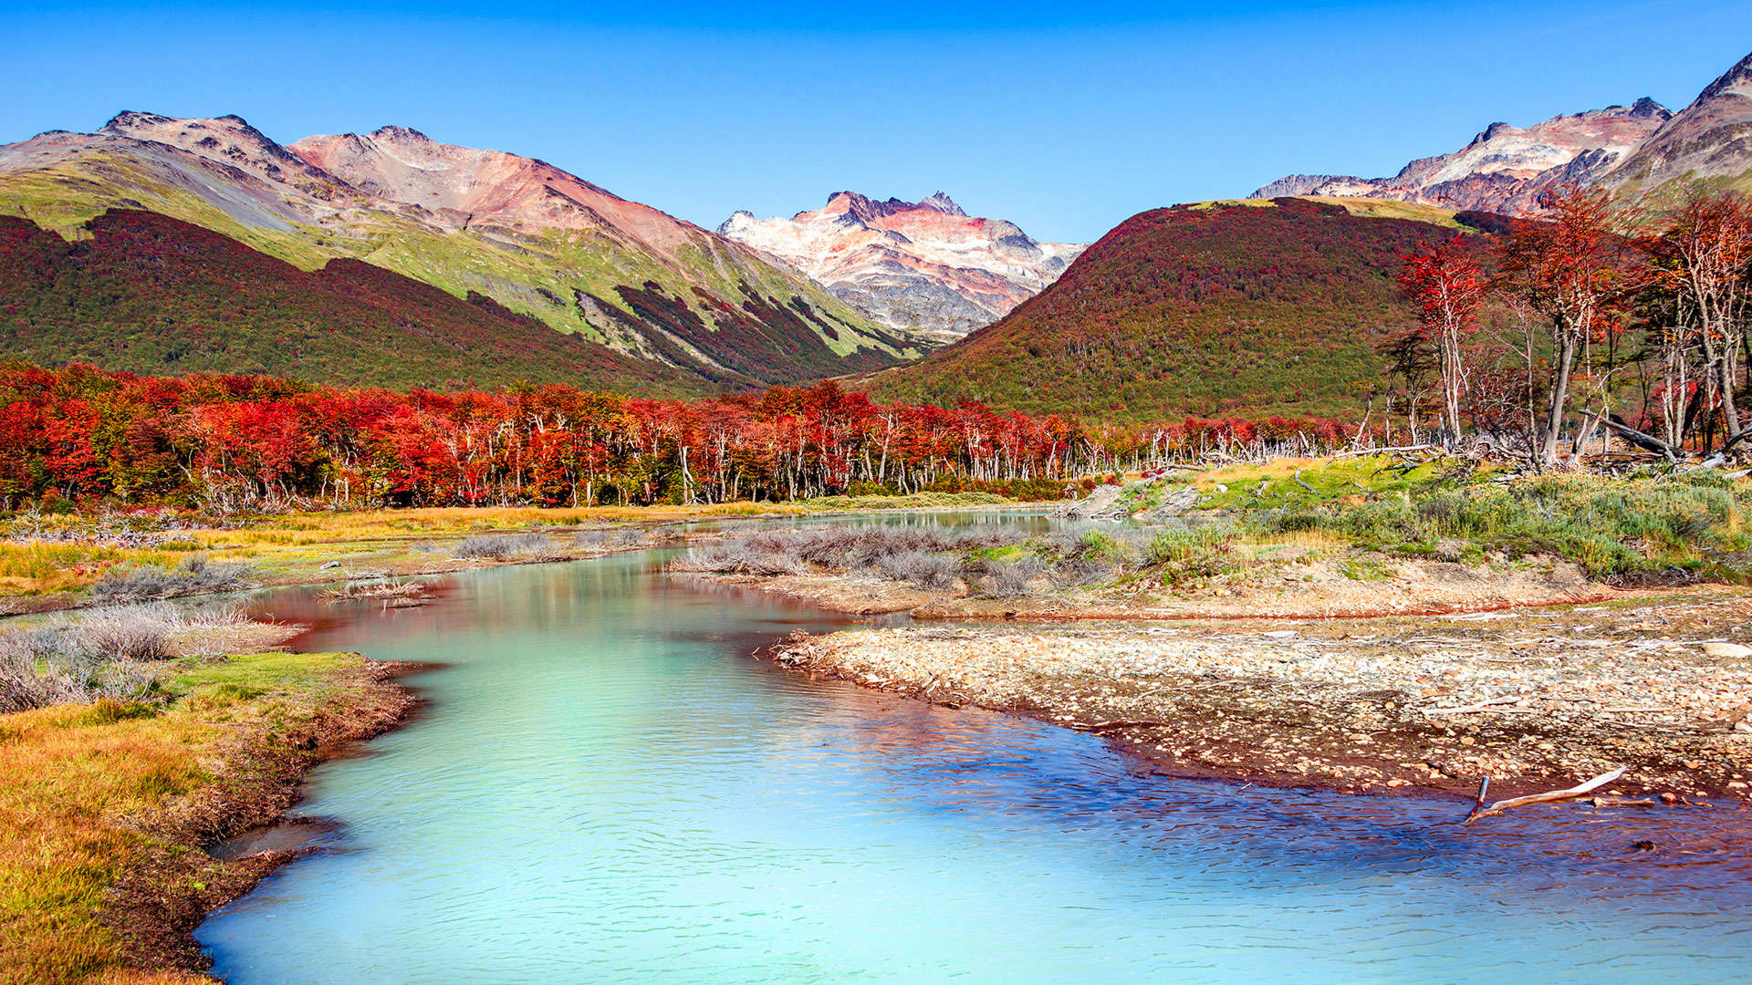
[[[151,210],[317,270],[352,258],[718,386],[918,356],[797,272],[533,158],[385,126],[282,145],[237,116],[123,112],[0,147],[0,214],[68,235]]]

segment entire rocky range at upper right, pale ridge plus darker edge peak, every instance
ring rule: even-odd
[[[1694,188],[1752,193],[1752,54],[1677,114],[1645,96],[1526,130],[1493,123],[1463,149],[1393,177],[1288,175],[1253,198],[1396,198],[1514,216],[1538,212],[1540,191],[1558,184],[1598,184],[1654,205]]]

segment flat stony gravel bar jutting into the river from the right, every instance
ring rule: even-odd
[[[1452,617],[855,629],[787,666],[1091,731],[1174,775],[1503,797],[1736,804],[1752,778],[1752,594]]]

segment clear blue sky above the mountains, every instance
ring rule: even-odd
[[[0,4],[0,142],[121,109],[282,142],[399,123],[704,226],[941,188],[1077,240],[1496,119],[1678,109],[1752,51],[1752,0],[639,7]]]

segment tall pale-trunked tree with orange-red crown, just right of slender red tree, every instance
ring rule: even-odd
[[[1542,193],[1538,202],[1545,216],[1515,223],[1503,237],[1500,277],[1551,331],[1551,386],[1538,457],[1552,463],[1580,358],[1594,340],[1619,330],[1629,289],[1628,240],[1615,228],[1608,191],[1563,186]],[[1605,400],[1605,387],[1600,394]]]

